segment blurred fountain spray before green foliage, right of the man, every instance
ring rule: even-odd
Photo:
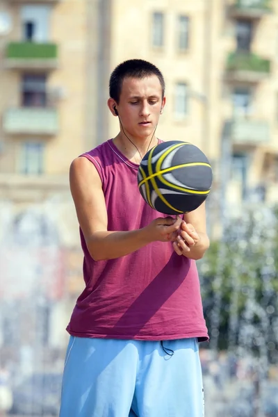
[[[277,367],[277,216],[261,204],[242,213],[225,219],[215,275],[209,277],[213,366],[204,375],[206,415],[277,417],[278,381],[268,378],[272,363]],[[199,269],[201,285],[206,285],[206,258]],[[223,343],[227,346],[221,352]]]

